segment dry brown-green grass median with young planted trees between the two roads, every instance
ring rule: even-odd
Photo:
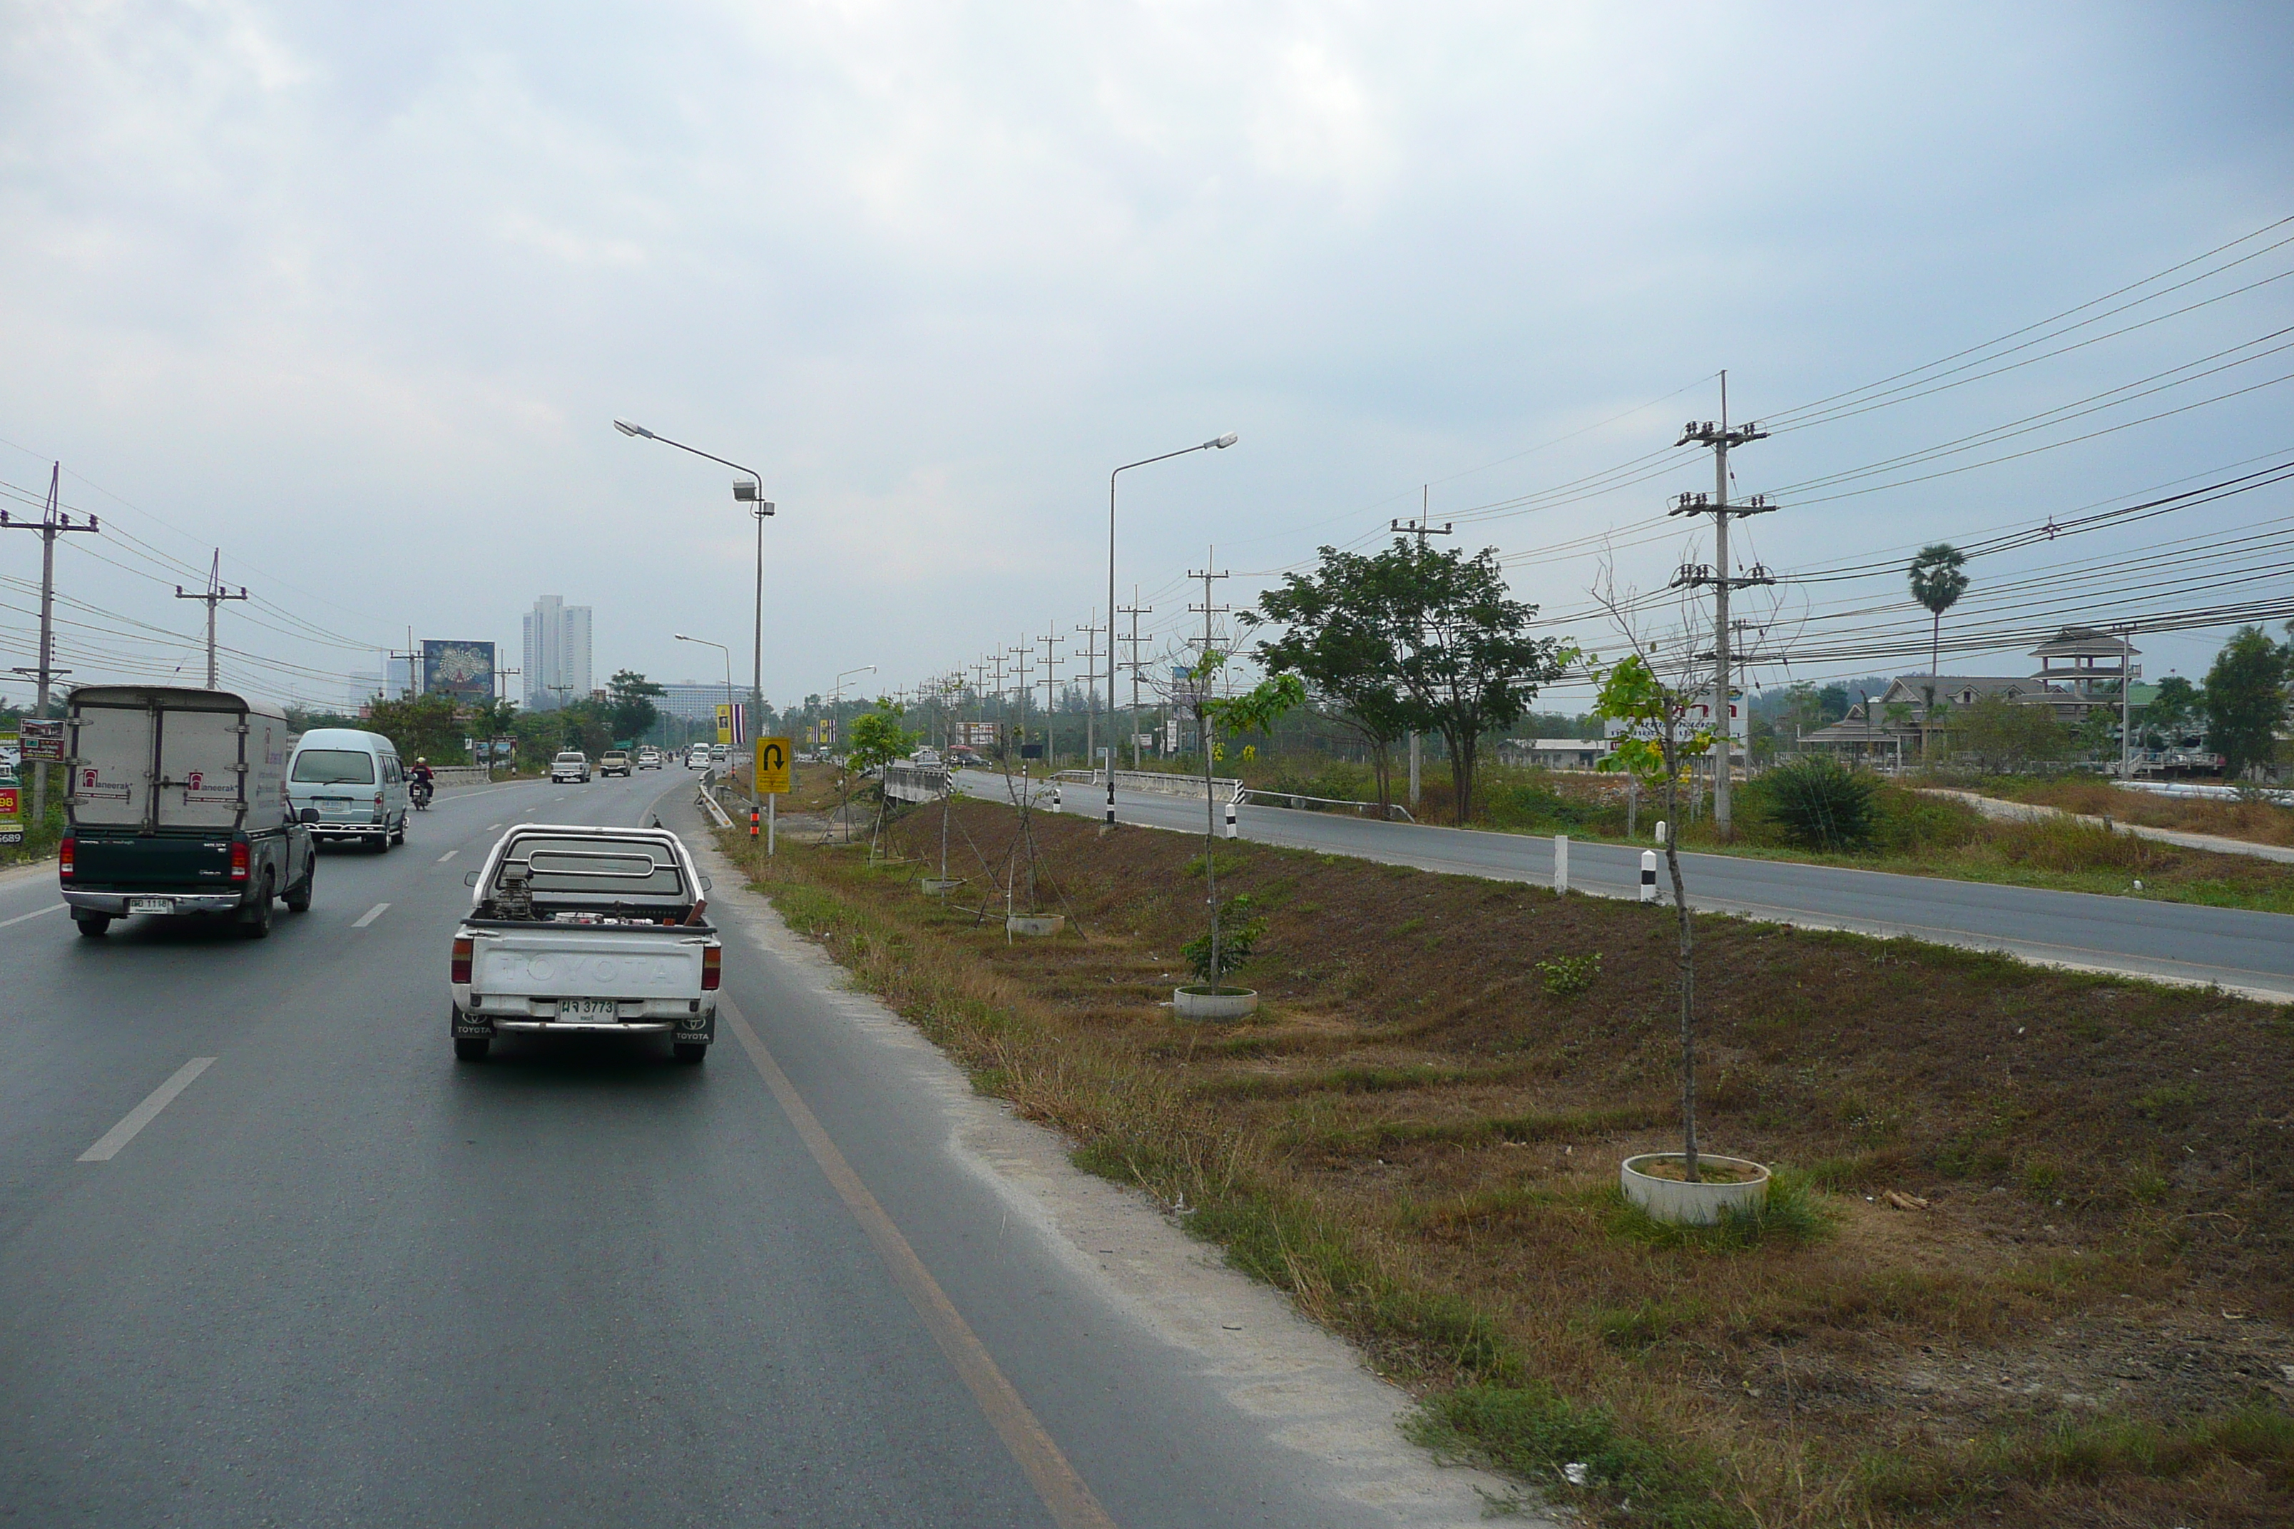
[[[1012,814],[957,816],[980,878]],[[1158,1002],[1202,844],[1037,830],[1048,942],[858,850],[757,876],[982,1089],[1370,1348],[1429,1437],[1592,1522],[2294,1518],[2283,1013],[1702,919],[1704,1139],[1778,1165],[1780,1208],[1656,1233],[1613,1183],[1677,1144],[1665,917],[1225,844],[1266,1009],[1188,1027]],[[1537,963],[1594,951],[1548,993]]]

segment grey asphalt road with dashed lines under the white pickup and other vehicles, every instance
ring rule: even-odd
[[[457,1064],[445,944],[500,825],[693,830],[690,793],[440,793],[406,848],[323,853],[266,942],[83,940],[53,871],[0,880],[0,1522],[1475,1522],[1468,1481],[1427,1492],[1399,1398],[1314,1371],[1335,1343],[1175,1261],[1122,1192],[1060,1187],[1055,1144],[723,876],[746,1041]],[[1078,1233],[1078,1194],[1129,1231]],[[1186,1281],[1234,1320],[1156,1316]],[[1305,1426],[1287,1385],[1353,1414]]]

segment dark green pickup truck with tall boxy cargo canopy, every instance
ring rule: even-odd
[[[310,908],[319,857],[287,802],[287,715],[225,690],[80,685],[64,718],[57,876],[83,935],[142,912],[271,933]],[[317,814],[310,814],[317,816]]]

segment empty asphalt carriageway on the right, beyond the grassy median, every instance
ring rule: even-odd
[[[957,779],[975,795],[1007,798],[1002,775],[966,770]],[[1106,809],[1106,786],[1067,784],[1060,798],[1064,811],[1097,818]],[[1202,798],[1117,791],[1115,811],[1124,823],[1181,832],[1204,828]],[[1553,883],[1548,837],[1379,823],[1353,814],[1285,807],[1241,807],[1236,832],[1264,844],[1360,855],[1425,871]],[[1890,938],[1911,935],[1938,944],[2012,951],[2028,960],[2223,983],[2294,999],[2294,917],[2278,912],[1734,855],[1682,855],[1682,880],[1695,908],[1716,912]],[[1581,892],[1638,896],[1640,850],[1574,841],[1569,883]],[[1659,885],[1663,887],[1663,871]],[[1670,887],[1663,894],[1670,901]]]

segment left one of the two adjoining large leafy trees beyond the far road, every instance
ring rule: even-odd
[[[1246,610],[1246,628],[1287,628],[1259,642],[1255,658],[1269,674],[1296,674],[1312,706],[1358,736],[1370,750],[1379,784],[1379,807],[1395,805],[1392,745],[1411,731],[1402,695],[1402,653],[1392,633],[1374,619],[1381,591],[1376,564],[1356,552],[1321,548],[1312,573],[1285,573],[1280,589]]]

